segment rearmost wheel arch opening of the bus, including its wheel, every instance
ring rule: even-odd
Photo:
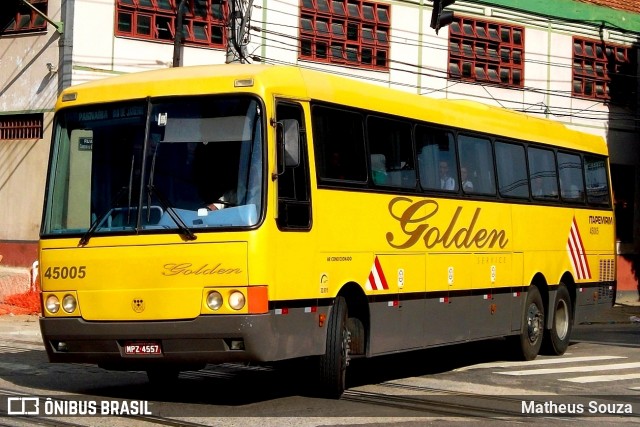
[[[565,274],[549,304],[548,328],[544,331],[543,352],[551,355],[562,355],[569,347],[575,313],[576,288],[573,278]]]

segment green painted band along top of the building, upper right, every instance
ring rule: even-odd
[[[574,0],[480,0],[477,3],[500,6],[562,20],[593,22],[606,28],[640,33],[640,14],[625,12]]]

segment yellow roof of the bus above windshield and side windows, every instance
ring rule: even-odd
[[[237,81],[243,79],[251,79],[253,84],[236,85]],[[603,138],[571,130],[553,120],[475,101],[434,99],[355,78],[294,66],[224,64],[125,74],[67,88],[58,99],[56,108],[154,96],[238,91],[258,93],[265,97],[282,95],[324,101],[460,130],[607,154]],[[70,98],[73,93],[76,94],[76,99],[63,101],[63,98]]]

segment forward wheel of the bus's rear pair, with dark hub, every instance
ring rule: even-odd
[[[540,291],[535,286],[529,286],[527,300],[522,319],[522,332],[517,341],[517,357],[522,360],[533,360],[542,346],[544,332],[544,306]]]

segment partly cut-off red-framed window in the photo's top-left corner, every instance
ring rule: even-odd
[[[47,14],[49,0],[28,0],[43,14]],[[43,31],[47,22],[36,11],[20,1],[9,2],[0,7],[0,35]]]

